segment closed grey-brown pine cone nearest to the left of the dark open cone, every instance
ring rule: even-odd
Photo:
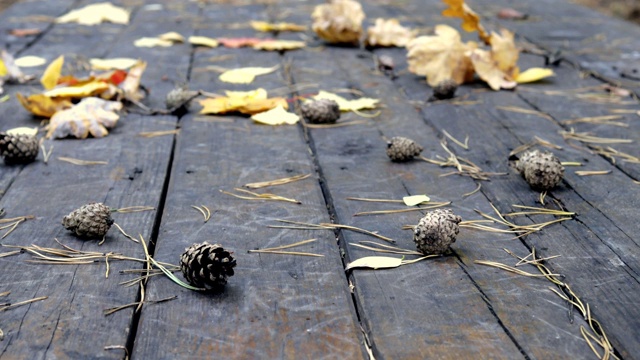
[[[89,203],[62,218],[62,225],[83,239],[103,239],[113,225],[111,209],[103,203]]]

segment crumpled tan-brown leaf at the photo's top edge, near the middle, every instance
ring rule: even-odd
[[[364,20],[362,5],[353,0],[334,0],[313,9],[313,31],[330,43],[357,44]]]

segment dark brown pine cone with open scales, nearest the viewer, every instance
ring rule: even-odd
[[[199,288],[212,290],[227,283],[233,276],[236,260],[218,244],[193,244],[180,256],[180,269],[187,281]]]

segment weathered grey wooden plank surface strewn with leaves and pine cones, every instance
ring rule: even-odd
[[[142,258],[140,244],[112,229],[106,242],[83,242],[60,226],[73,209],[100,201],[113,208],[147,205],[156,211],[114,214],[130,234],[141,234],[153,256],[177,263],[194,242],[220,243],[234,251],[236,275],[224,292],[200,294],[178,287],[166,277],[153,277],[144,287],[148,301],[105,316],[105,309],[140,299],[139,287],[120,282],[141,269],[135,262],[46,265],[28,261],[22,253],[0,257],[1,303],[46,296],[42,301],[0,312],[2,359],[588,359],[596,358],[581,333],[588,322],[561,299],[544,278],[524,277],[476,260],[514,265],[503,249],[526,256],[560,257],[546,265],[562,274],[620,359],[640,359],[640,164],[615,161],[567,142],[561,131],[592,132],[632,143],[610,144],[640,156],[640,110],[635,96],[607,97],[602,87],[618,84],[640,91],[640,28],[559,0],[474,0],[486,26],[514,30],[523,52],[520,67],[545,66],[545,58],[562,61],[556,76],[521,85],[515,91],[493,92],[482,83],[461,86],[458,100],[428,103],[431,89],[423,77],[407,71],[405,49],[360,50],[331,47],[307,33],[305,49],[283,54],[251,49],[137,48],[133,41],[177,31],[185,37],[251,37],[249,20],[308,24],[320,1],[123,1],[131,8],[128,26],[84,27],[53,24],[51,19],[91,3],[85,0],[24,0],[0,15],[3,47],[18,56],[53,60],[68,57],[133,57],[148,61],[143,84],[150,90],[145,103],[164,106],[175,84],[221,93],[263,87],[294,98],[318,90],[353,92],[381,99],[381,114],[360,125],[332,129],[256,125],[242,116],[207,117],[193,111],[174,116],[124,115],[102,139],[48,141],[48,164],[0,166],[0,207],[5,218],[34,215],[2,245],[42,247],[54,239],[84,251],[117,252]],[[96,1],[97,2],[97,1]],[[161,4],[162,6],[152,5]],[[440,1],[363,1],[367,23],[396,17],[407,26],[426,28],[456,19],[443,18]],[[496,13],[513,7],[530,16],[526,21],[500,20]],[[44,17],[43,17],[44,16]],[[11,29],[39,28],[30,37],[7,35]],[[299,34],[270,34],[300,39]],[[473,36],[469,35],[469,39]],[[391,56],[397,77],[376,71],[374,57]],[[553,60],[553,59],[552,59]],[[234,86],[208,69],[280,65],[251,85]],[[41,71],[41,68],[37,72]],[[0,104],[2,129],[36,126],[19,105],[15,93],[35,93],[37,83],[5,85],[9,100]],[[580,89],[580,90],[576,90]],[[352,93],[341,93],[351,97]],[[584,94],[597,94],[596,96]],[[526,109],[528,113],[509,111]],[[627,127],[566,120],[611,115]],[[627,111],[629,110],[629,111]],[[346,120],[361,120],[345,114]],[[145,131],[180,129],[177,135],[143,138]],[[451,168],[424,161],[397,164],[388,160],[385,138],[411,137],[425,157],[447,156],[440,146],[445,131],[458,139],[469,136],[469,149],[450,148],[488,172],[506,172],[491,181],[441,176]],[[509,166],[509,152],[535,136],[562,146],[565,180],[549,193],[546,206],[561,206],[577,215],[520,239],[513,234],[463,228],[449,256],[388,270],[353,270],[346,263],[375,253],[351,244],[374,238],[332,230],[270,228],[276,219],[307,223],[335,222],[391,237],[413,249],[411,232],[421,212],[357,216],[359,211],[400,208],[348,197],[401,199],[428,194],[451,201],[464,220],[480,219],[474,210],[491,213],[516,210],[514,205],[541,206],[539,193],[529,189]],[[607,144],[595,144],[609,146]],[[107,165],[77,166],[59,157],[107,161]],[[607,170],[607,175],[578,176],[576,170]],[[249,182],[297,174],[311,177],[267,189],[302,204],[237,199],[231,191]],[[480,191],[470,193],[482,184]],[[212,209],[211,220],[192,208]],[[552,217],[517,218],[521,224]],[[323,257],[255,254],[248,250],[318,241],[301,247]],[[1,248],[0,255],[13,248]],[[382,254],[384,255],[384,254]],[[399,255],[390,255],[399,256]],[[413,258],[413,257],[407,257]],[[521,267],[538,273],[533,266]],[[178,274],[181,276],[180,274]],[[565,289],[566,290],[566,289]],[[596,351],[602,349],[591,341]]]

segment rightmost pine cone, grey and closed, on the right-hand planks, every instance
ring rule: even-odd
[[[545,191],[556,187],[564,176],[560,160],[550,152],[528,151],[516,163],[516,169],[534,190]]]

